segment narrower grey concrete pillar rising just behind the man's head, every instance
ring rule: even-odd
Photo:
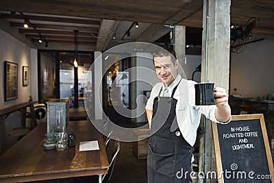
[[[176,25],[175,26],[175,52],[179,64],[184,65],[184,60],[186,57],[186,27]]]

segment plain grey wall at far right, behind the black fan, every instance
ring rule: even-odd
[[[231,55],[231,95],[262,98],[267,94],[272,97],[274,93],[274,36],[256,35],[253,40],[259,38],[264,40],[248,45],[240,54]]]

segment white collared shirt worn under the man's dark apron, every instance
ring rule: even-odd
[[[181,81],[181,82],[180,82]],[[215,117],[216,106],[195,106],[195,86],[196,82],[191,80],[184,80],[178,74],[173,83],[169,87],[165,87],[162,82],[155,84],[151,90],[149,99],[147,100],[147,110],[153,110],[153,100],[158,97],[160,89],[160,97],[171,97],[173,88],[177,86],[173,98],[177,99],[176,104],[176,117],[179,130],[186,139],[186,141],[193,146],[197,137],[197,128],[199,127],[201,114],[204,114],[206,118],[216,123],[222,123]],[[230,120],[229,120],[230,121]],[[229,123],[227,121],[226,123]]]

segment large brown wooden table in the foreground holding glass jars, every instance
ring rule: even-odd
[[[0,182],[28,182],[102,175],[108,172],[108,158],[102,135],[90,121],[72,121],[69,127],[76,136],[76,146],[64,151],[44,150],[42,141],[47,131],[40,123],[0,156]],[[80,141],[99,141],[100,150],[79,151]]]

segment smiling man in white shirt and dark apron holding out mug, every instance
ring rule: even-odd
[[[161,83],[153,86],[146,106],[151,127],[148,182],[190,182],[192,146],[201,114],[216,123],[228,123],[231,110],[227,93],[223,88],[215,88],[215,105],[195,106],[195,82],[184,80],[177,73],[179,61],[159,49],[153,62]],[[182,169],[184,173],[188,171],[186,176],[181,175]]]

